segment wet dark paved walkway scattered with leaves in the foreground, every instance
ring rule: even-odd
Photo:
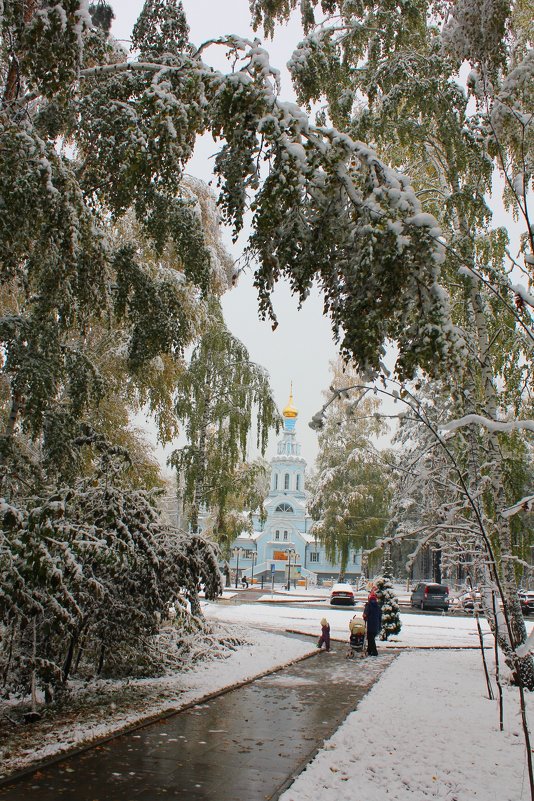
[[[0,799],[275,799],[394,658],[334,648],[2,785]]]

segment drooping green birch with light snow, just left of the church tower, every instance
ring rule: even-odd
[[[280,416],[265,370],[230,333],[215,299],[176,388],[175,403],[187,444],[174,451],[170,462],[177,470],[188,520],[196,531],[202,509],[211,510],[211,528],[227,542],[232,531],[238,533],[230,513],[241,512],[252,500],[255,476],[262,469],[245,469],[252,421],[255,417],[256,444],[263,454],[269,430],[278,430]]]

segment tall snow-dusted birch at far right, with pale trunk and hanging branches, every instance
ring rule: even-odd
[[[320,119],[329,117],[356,139],[371,139],[381,158],[412,176],[424,209],[439,220],[446,251],[440,285],[450,301],[447,325],[458,334],[452,343],[458,360],[446,369],[438,364],[438,372],[454,400],[453,418],[471,427],[465,434],[469,456],[460,463],[473,458],[485,486],[478,534],[483,531],[494,546],[487,581],[499,585],[510,612],[506,633],[500,627],[501,645],[517,680],[533,687],[532,664],[521,665],[515,655],[526,632],[504,513],[517,499],[506,491],[499,430],[501,423],[517,432],[529,426],[520,411],[531,392],[534,343],[528,286],[534,261],[528,208],[532,31],[521,4],[500,5],[488,15],[477,2],[450,9],[412,3],[400,15],[382,2],[332,2],[323,3],[319,15],[314,0],[257,0],[253,18],[272,32],[274,22],[297,6],[306,33],[290,61],[299,100],[324,103]],[[471,69],[462,83],[463,62]],[[518,259],[509,252],[506,230],[492,224],[496,172],[504,180],[504,202],[524,223]],[[395,277],[395,268],[389,269],[388,280]],[[362,305],[370,301],[367,296]],[[389,316],[386,304],[382,311]],[[436,365],[421,366],[435,375]],[[403,367],[401,349],[397,377]],[[487,613],[491,620],[489,608]],[[519,675],[523,667],[528,679]]]

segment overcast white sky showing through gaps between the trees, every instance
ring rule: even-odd
[[[127,40],[143,2],[111,0],[111,3],[116,17],[113,34],[117,39]],[[224,3],[216,0],[184,0],[183,6],[191,28],[191,40],[197,45],[228,33],[254,36],[249,25],[248,0],[225,0]],[[282,70],[283,95],[287,99],[294,99],[294,95],[285,64],[299,40],[300,30],[295,24],[280,28],[275,41],[266,43],[271,63]],[[217,145],[211,138],[204,137],[197,145],[188,171],[209,181],[212,177],[209,157],[216,150]],[[236,258],[241,253],[238,246],[230,246],[230,251]],[[280,409],[287,402],[290,382],[293,382],[295,405],[299,410],[298,438],[302,444],[302,455],[311,466],[317,452],[317,436],[308,427],[308,422],[323,404],[322,391],[330,384],[329,360],[336,355],[330,323],[322,314],[320,297],[318,294],[312,295],[303,309],[298,311],[296,299],[290,296],[286,286],[280,286],[274,294],[279,322],[274,332],[269,322],[258,319],[257,297],[250,275],[243,276],[238,286],[227,293],[223,298],[223,306],[232,332],[245,343],[253,361],[268,370]],[[268,456],[274,455],[275,444],[276,437],[273,436]]]

